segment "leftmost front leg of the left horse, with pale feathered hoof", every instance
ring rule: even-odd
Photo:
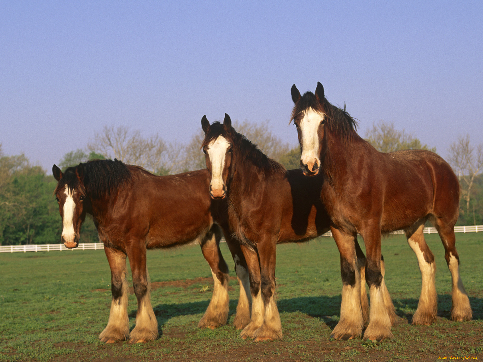
[[[126,254],[108,247],[104,247],[104,251],[111,267],[113,300],[109,312],[109,321],[106,328],[99,334],[99,339],[105,343],[114,343],[115,341],[124,341],[129,336],[129,288],[126,281]]]

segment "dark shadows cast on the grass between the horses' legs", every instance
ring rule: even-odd
[[[469,297],[469,301],[473,310],[473,319],[483,319],[483,298]],[[158,325],[161,327],[173,317],[203,314],[209,303],[210,302],[206,300],[192,303],[159,304],[154,307],[154,312]],[[237,303],[237,300],[230,300],[230,316],[235,314]],[[393,303],[398,316],[405,318],[411,323],[413,313],[408,312],[408,309],[415,310],[418,306],[418,300],[414,298],[395,298]],[[280,313],[301,312],[314,318],[320,318],[324,320],[327,326],[334,328],[337,324],[337,320],[334,320],[333,317],[338,317],[340,315],[341,295],[281,299],[277,302],[277,306]],[[438,316],[450,319],[450,311],[451,295],[438,295]],[[135,309],[129,313],[129,317],[136,317]],[[159,330],[159,333],[160,335],[162,334],[161,329]]]

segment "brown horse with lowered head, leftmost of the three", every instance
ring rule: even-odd
[[[126,257],[138,299],[130,342],[157,338],[146,249],[169,248],[193,240],[201,245],[214,280],[213,297],[199,327],[226,324],[228,267],[218,245],[222,230],[236,261],[240,282],[235,326],[243,328],[248,324],[251,295],[247,265],[227,226],[227,203],[210,197],[207,170],[154,176],[141,167],[117,160],[96,160],[68,168],[64,173],[54,165],[52,171],[58,181],[55,195],[64,225],[62,242],[67,248],[77,247],[85,214],[91,214],[111,267],[113,299],[109,321],[99,335],[101,341],[113,343],[129,337]]]

